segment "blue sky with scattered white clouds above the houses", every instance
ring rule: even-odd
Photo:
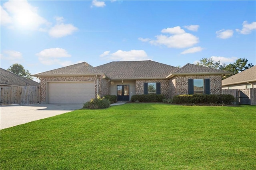
[[[1,68],[206,57],[256,65],[256,1],[2,1]]]

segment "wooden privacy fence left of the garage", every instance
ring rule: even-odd
[[[1,105],[28,105],[38,103],[40,103],[40,85],[1,87]]]

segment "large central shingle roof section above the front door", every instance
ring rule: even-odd
[[[156,61],[113,61],[95,67],[111,79],[164,79],[177,69]]]

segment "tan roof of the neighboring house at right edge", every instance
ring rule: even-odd
[[[256,66],[222,80],[222,86],[256,81]]]

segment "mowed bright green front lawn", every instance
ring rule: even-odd
[[[1,170],[256,169],[256,107],[126,103],[1,130]]]

